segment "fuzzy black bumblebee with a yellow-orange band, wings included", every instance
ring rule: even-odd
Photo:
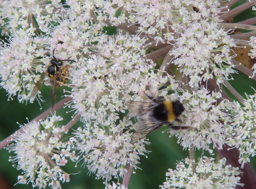
[[[146,86],[145,94],[150,98],[151,102],[131,101],[126,103],[130,113],[137,116],[138,119],[134,141],[143,139],[148,133],[165,124],[175,130],[194,128],[174,125],[175,122],[182,123],[179,116],[185,111],[183,104],[179,100],[170,101],[163,96],[154,98],[148,86]]]

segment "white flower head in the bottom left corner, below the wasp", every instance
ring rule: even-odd
[[[23,126],[23,132],[15,134],[14,144],[7,147],[16,156],[17,170],[22,170],[18,183],[31,182],[33,187],[60,188],[60,182],[69,182],[69,174],[61,169],[71,155],[68,144],[61,142],[65,128],[58,126],[61,117],[53,115],[46,120]]]

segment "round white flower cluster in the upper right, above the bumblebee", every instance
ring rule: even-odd
[[[170,55],[179,70],[190,77],[191,87],[199,87],[210,78],[215,78],[218,85],[230,79],[234,65],[229,52],[236,44],[217,22],[194,22],[180,35]]]

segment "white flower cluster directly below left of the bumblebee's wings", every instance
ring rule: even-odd
[[[110,180],[123,177],[126,165],[137,169],[139,155],[147,153],[144,145],[148,142],[141,140],[133,142],[133,134],[124,131],[131,121],[121,125],[95,125],[87,123],[79,127],[71,140],[76,144],[79,161],[87,166],[90,172],[97,173],[97,178]]]

